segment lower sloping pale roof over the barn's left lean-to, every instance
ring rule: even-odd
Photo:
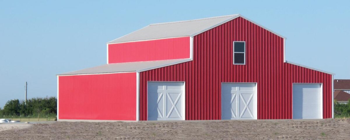
[[[140,72],[163,66],[178,64],[182,62],[191,61],[192,59],[172,59],[172,60],[161,60],[161,61],[144,61],[144,62],[127,62],[127,63],[112,63],[92,68],[71,71],[61,73],[58,75],[80,75],[80,74],[97,74],[97,73],[113,73],[113,72]]]

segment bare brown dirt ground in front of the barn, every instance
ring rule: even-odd
[[[0,124],[0,127],[3,124]],[[54,122],[0,131],[0,139],[329,139],[349,140],[350,119]]]

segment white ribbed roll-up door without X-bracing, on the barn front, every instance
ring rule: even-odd
[[[293,84],[293,119],[321,119],[321,84]]]

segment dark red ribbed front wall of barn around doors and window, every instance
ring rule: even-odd
[[[246,41],[246,65],[233,65],[233,41]],[[331,118],[331,75],[283,62],[283,38],[243,18],[194,36],[193,61],[140,72],[140,120],[147,81],[185,81],[186,120],[221,119],[221,82],[258,83],[258,119],[292,119],[292,83],[323,83]]]

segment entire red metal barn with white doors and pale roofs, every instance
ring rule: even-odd
[[[107,43],[107,64],[58,75],[58,120],[333,117],[333,74],[284,58],[241,15],[157,23]]]

